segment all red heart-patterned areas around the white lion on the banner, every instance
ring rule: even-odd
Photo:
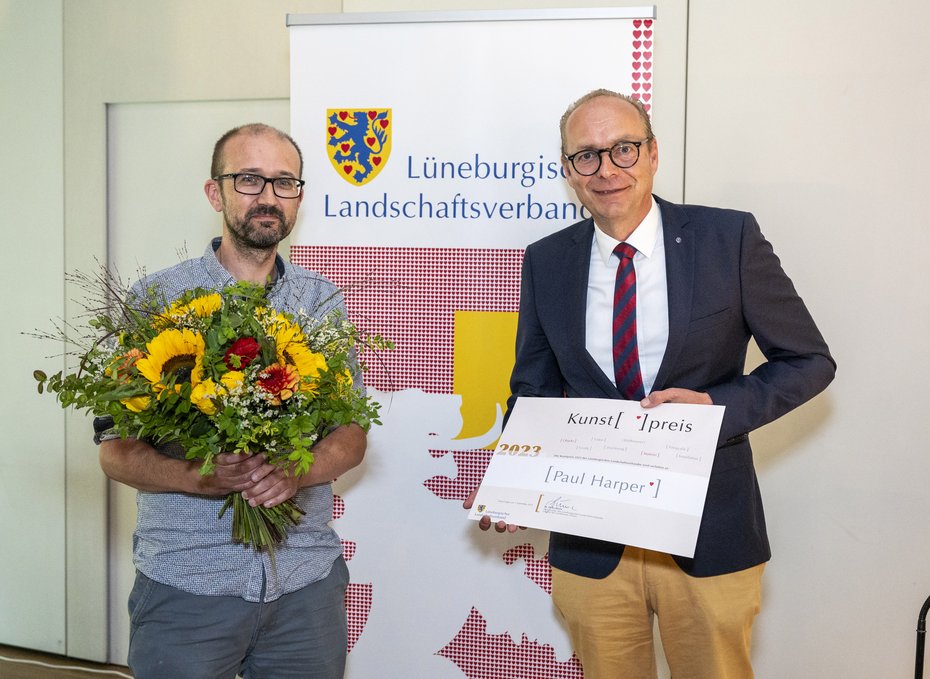
[[[466,248],[392,248],[293,246],[291,261],[318,271],[345,295],[349,318],[364,331],[390,338],[395,349],[378,356],[363,352],[365,381],[389,392],[421,389],[453,393],[454,314],[456,311],[511,311],[519,306],[522,250]],[[491,458],[489,450],[430,450],[434,458],[451,455],[457,476],[434,476],[423,485],[436,497],[461,502],[478,486]],[[345,510],[336,499],[336,515]],[[335,517],[334,517],[335,518]],[[343,541],[346,560],[354,542]],[[508,549],[509,566],[523,561],[526,578],[551,591],[548,555],[536,558],[532,545]],[[346,593],[349,649],[361,636],[377,591],[371,583],[350,583]],[[436,653],[470,679],[580,679],[572,656],[559,662],[551,646],[522,635],[489,635],[487,622],[472,608],[458,634]]]

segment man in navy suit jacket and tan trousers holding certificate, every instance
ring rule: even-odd
[[[675,679],[752,677],[771,554],[748,434],[822,391],[835,363],[751,214],[653,196],[658,143],[638,101],[596,90],[560,128],[568,183],[593,219],[526,250],[508,409],[567,396],[726,410],[694,557],[553,533],[553,601],[586,679],[655,677],[654,617]],[[635,248],[629,392],[613,355],[621,243]],[[767,360],[745,374],[750,338]]]

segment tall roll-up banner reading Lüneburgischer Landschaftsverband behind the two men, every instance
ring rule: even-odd
[[[546,533],[462,500],[500,435],[524,248],[587,217],[559,118],[605,87],[652,107],[655,8],[289,15],[307,193],[291,260],[345,292],[383,425],[335,483],[348,677],[581,677]]]

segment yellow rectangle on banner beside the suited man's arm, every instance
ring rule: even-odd
[[[516,336],[513,311],[455,312],[452,390],[462,397],[462,431],[456,438],[487,434],[496,406],[507,408]]]

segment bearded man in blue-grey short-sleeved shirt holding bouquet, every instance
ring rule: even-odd
[[[342,294],[318,273],[285,262],[278,244],[294,228],[303,199],[300,149],[262,124],[224,134],[213,152],[207,199],[223,215],[223,235],[202,257],[138,282],[167,304],[194,288],[222,290],[236,281],[268,287],[275,309],[345,318]],[[363,389],[360,377],[355,386]],[[112,422],[111,422],[112,423]],[[98,418],[100,464],[138,492],[133,534],[136,580],[129,597],[129,666],[137,679],[338,679],[347,647],[348,570],[329,525],[331,482],[363,459],[364,430],[331,431],[313,448],[304,475],[285,474],[263,455],[216,457],[215,473],[178,446],[119,439]],[[217,515],[226,495],[253,506],[293,498],[304,512],[287,540],[267,551],[235,544],[231,515]]]

